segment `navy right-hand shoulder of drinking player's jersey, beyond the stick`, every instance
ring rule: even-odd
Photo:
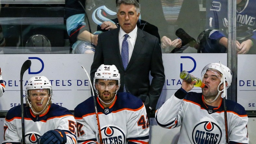
[[[235,112],[238,115],[247,115],[245,108],[234,101],[226,100],[227,111]]]

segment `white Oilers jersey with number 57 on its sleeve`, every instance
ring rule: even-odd
[[[24,106],[25,143],[37,144],[45,132],[61,129],[66,133],[67,144],[76,144],[76,121],[70,111],[57,104],[51,104],[45,114],[35,116],[30,107]],[[4,142],[16,144],[22,142],[21,106],[11,108],[4,123]]]

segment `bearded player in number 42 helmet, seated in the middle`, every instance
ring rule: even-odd
[[[130,93],[117,93],[120,74],[115,65],[101,65],[94,78],[96,106],[104,144],[148,144],[149,125],[143,102]],[[74,110],[78,143],[99,143],[93,97]]]

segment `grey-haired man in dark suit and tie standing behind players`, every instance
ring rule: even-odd
[[[119,0],[117,17],[120,27],[101,33],[91,66],[93,80],[101,65],[115,65],[121,74],[120,92],[129,92],[145,104],[147,113],[155,110],[165,81],[159,39],[137,28],[140,7],[136,0]],[[128,34],[128,38],[124,35]],[[123,41],[127,42],[129,54],[122,54]],[[127,52],[128,53],[128,52]],[[123,65],[123,56],[128,65]],[[149,72],[152,76],[150,84]]]

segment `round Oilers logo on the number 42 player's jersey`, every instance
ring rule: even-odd
[[[106,126],[101,129],[101,134],[104,144],[125,144],[125,134],[123,130],[117,126]]]

